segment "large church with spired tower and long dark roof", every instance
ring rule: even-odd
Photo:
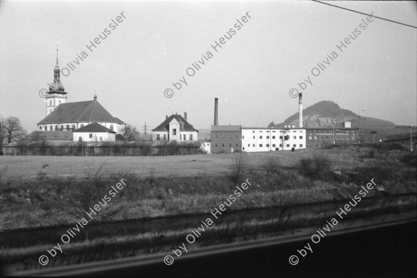
[[[96,95],[90,101],[67,103],[67,94],[68,92],[65,92],[65,88],[60,81],[57,49],[54,82],[49,84],[49,91],[45,96],[46,117],[38,122],[38,129],[40,131],[75,131],[95,123],[114,131],[116,134],[122,133],[126,124],[108,113],[97,101]]]

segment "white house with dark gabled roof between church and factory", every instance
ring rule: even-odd
[[[187,113],[166,116],[165,121],[156,126],[153,131],[154,141],[197,141],[198,130],[187,121]]]

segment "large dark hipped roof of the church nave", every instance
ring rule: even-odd
[[[113,117],[97,100],[60,104],[38,124],[63,124],[69,122],[114,122],[123,123]]]

